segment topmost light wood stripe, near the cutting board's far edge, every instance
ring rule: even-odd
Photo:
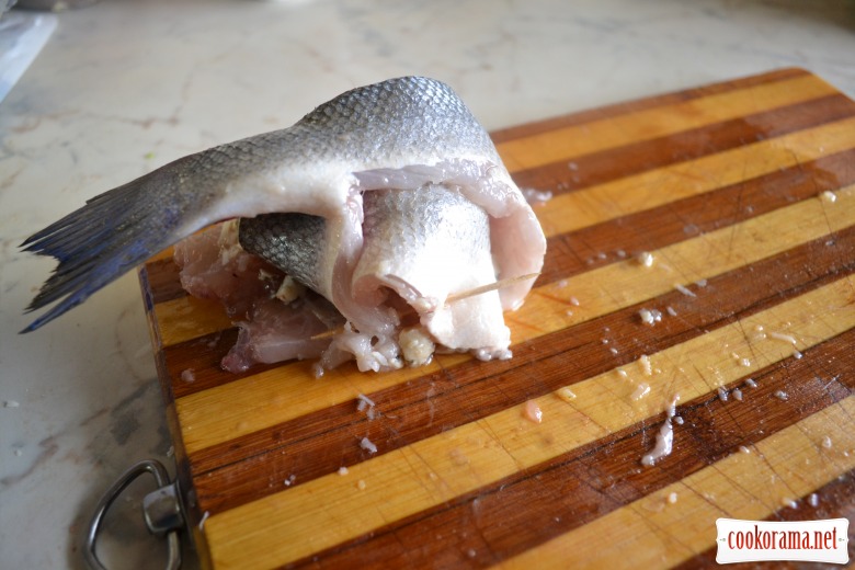
[[[498,149],[509,170],[529,169],[836,92],[805,76],[508,140]]]

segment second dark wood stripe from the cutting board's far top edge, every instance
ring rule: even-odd
[[[603,184],[657,168],[677,164],[772,139],[855,115],[855,102],[842,94],[796,103],[755,115],[563,159],[512,173],[521,187],[550,190],[555,195]]]

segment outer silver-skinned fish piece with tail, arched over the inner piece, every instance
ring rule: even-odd
[[[56,305],[22,332],[202,228],[271,213],[326,219],[318,293],[349,320],[379,323],[350,289],[363,193],[425,184],[458,189],[489,214],[498,278],[540,270],[543,231],[487,132],[448,86],[403,77],[347,91],[292,127],[175,160],[34,233],[22,248],[59,263],[27,311]],[[531,286],[503,288],[502,307],[518,307]]]

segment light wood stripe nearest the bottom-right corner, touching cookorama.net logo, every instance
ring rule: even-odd
[[[716,518],[762,520],[855,468],[855,396],[497,568],[653,568],[715,545]],[[825,436],[834,442],[825,448]],[[805,466],[810,465],[810,469]],[[668,503],[676,493],[677,502]],[[545,563],[547,562],[547,563]]]

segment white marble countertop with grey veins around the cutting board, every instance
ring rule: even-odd
[[[16,333],[53,266],[18,251],[33,231],[391,76],[445,80],[488,128],[787,66],[853,95],[854,30],[854,2],[818,0],[103,0],[61,13],[0,103],[0,567],[82,567],[103,490],[140,458],[170,460],[135,275]],[[123,517],[136,499],[119,506],[110,567],[159,568],[158,544]]]

